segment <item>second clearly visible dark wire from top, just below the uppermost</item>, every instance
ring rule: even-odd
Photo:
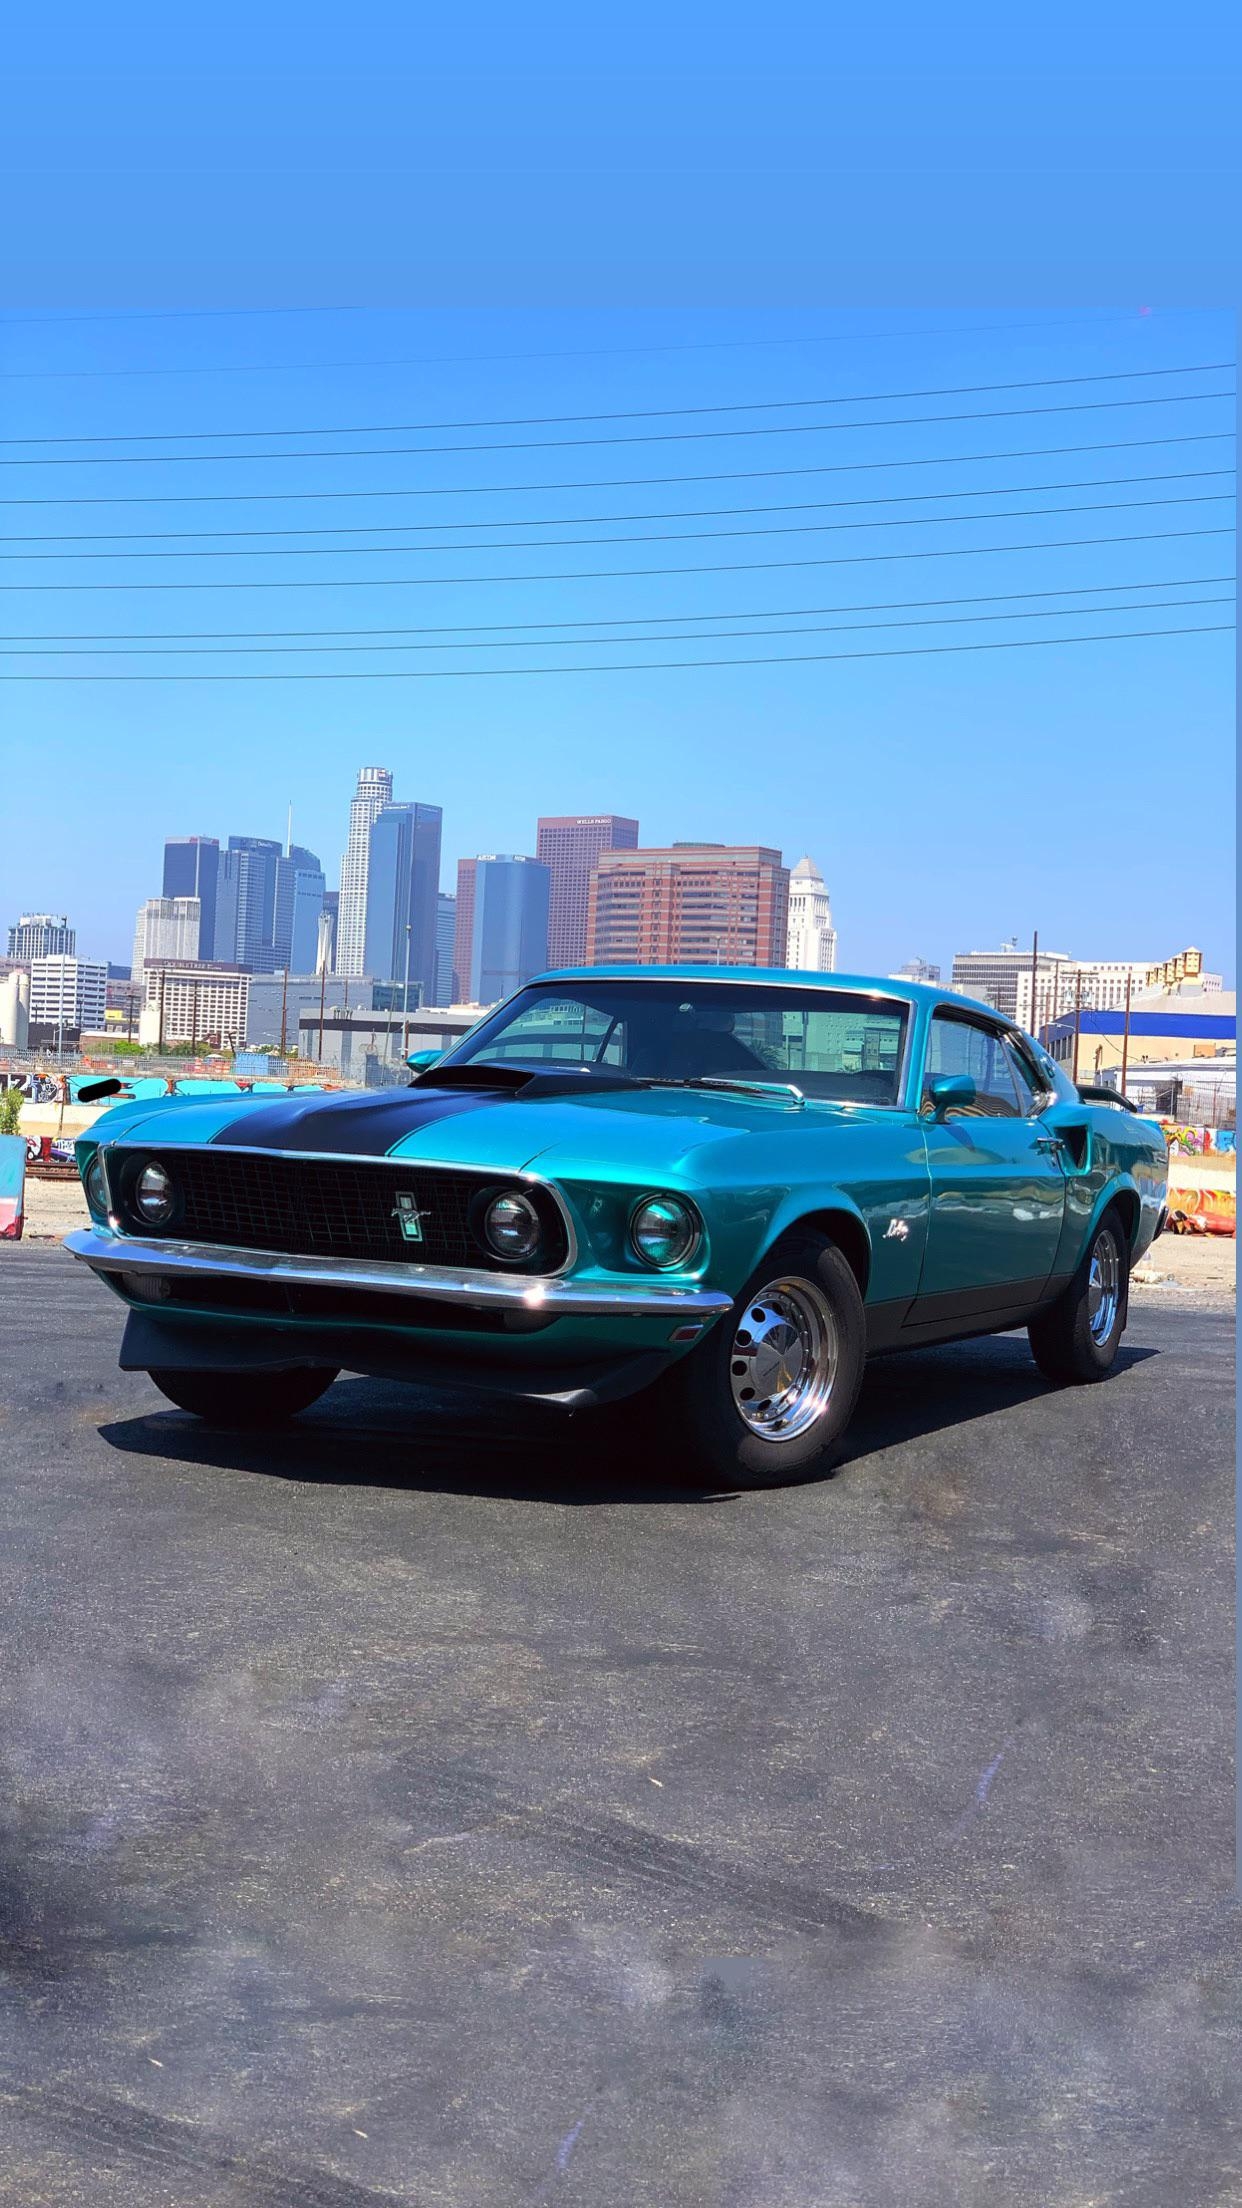
[[[1200,406],[1235,391],[1176,391],[1160,397],[1070,400],[1065,406],[983,406],[950,415],[864,415],[855,422],[780,422],[765,428],[661,428],[625,437],[519,437],[499,444],[331,444],[296,453],[53,453],[51,459],[0,459],[0,468],[208,468],[236,459],[393,459],[446,453],[572,453],[619,444],[705,444],[720,437],[829,437],[844,428],[915,428],[926,422],[1021,422],[1025,415],[1109,413],[1118,406]],[[747,408],[749,411],[749,408]],[[305,431],[303,435],[314,435]]]

